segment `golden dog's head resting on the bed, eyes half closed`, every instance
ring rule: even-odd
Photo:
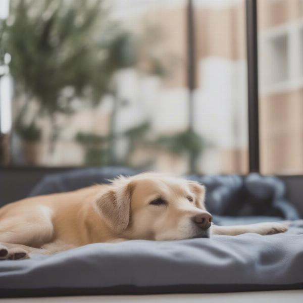
[[[204,199],[197,182],[144,173],[113,180],[95,206],[117,237],[175,240],[210,236]]]

